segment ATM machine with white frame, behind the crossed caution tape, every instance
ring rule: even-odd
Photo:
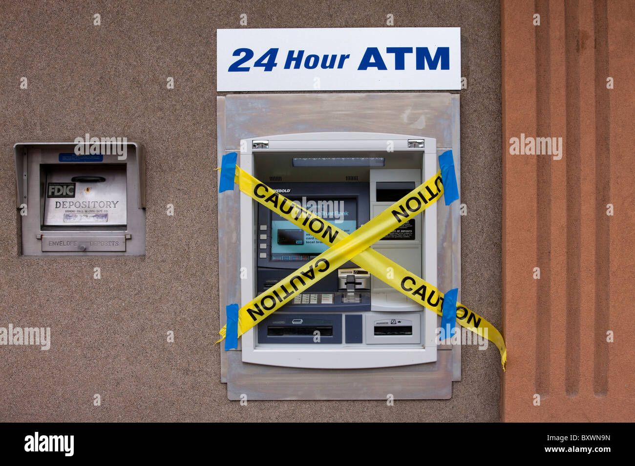
[[[436,139],[421,135],[277,134],[243,139],[241,149],[244,171],[347,233],[438,171]],[[328,246],[246,195],[239,203],[243,306]],[[432,204],[372,246],[433,285],[436,210]],[[237,377],[234,383],[251,385],[252,398],[358,398],[353,386],[349,394],[314,388],[310,396],[298,396],[298,390],[319,377],[330,379],[332,388],[338,375],[372,384],[374,377],[394,377],[408,366],[432,369],[436,327],[435,313],[349,261],[244,333],[239,354],[251,372],[232,374],[230,363],[229,383]],[[278,393],[263,394],[271,384]],[[235,393],[229,398],[237,399]]]

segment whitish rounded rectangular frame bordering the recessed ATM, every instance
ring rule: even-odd
[[[420,146],[408,147],[408,140],[422,141]],[[262,141],[259,143],[258,141]],[[264,142],[266,141],[266,145]],[[394,152],[386,151],[386,141],[393,141]],[[325,132],[325,133],[297,133],[279,134],[244,139],[241,147],[239,166],[246,172],[253,174],[253,155],[257,152],[267,153],[275,157],[276,153],[315,153],[327,157],[329,154],[340,153],[380,153],[390,157],[391,153],[413,152],[422,153],[422,176],[431,178],[437,172],[436,141],[434,138],[409,136],[404,134],[359,133],[359,132]],[[382,152],[383,151],[383,152]],[[271,154],[271,155],[270,155]],[[327,157],[328,158],[328,157]],[[418,183],[420,184],[420,183]],[[416,184],[415,186],[418,186]],[[423,214],[424,217],[424,279],[436,285],[437,273],[437,205],[432,204]],[[247,196],[241,197],[241,244],[255,244],[254,230],[255,209],[254,201]],[[246,269],[246,279],[243,283],[255,281],[253,271],[257,268],[258,250],[253,247],[241,248],[241,268]],[[298,264],[300,266],[300,264]],[[398,294],[398,292],[396,292]],[[401,296],[401,295],[400,295]],[[250,302],[255,297],[255,290],[249,286],[241,287],[241,305]],[[411,307],[408,307],[411,309]],[[278,312],[278,311],[276,311]],[[405,315],[405,314],[404,314]],[[418,314],[417,314],[418,315]],[[364,318],[364,320],[366,320]],[[288,347],[265,347],[257,344],[256,327],[244,333],[241,340],[243,362],[262,365],[298,367],[309,369],[361,369],[390,366],[417,365],[436,361],[437,347],[434,341],[434,329],[437,327],[437,316],[429,309],[424,310],[423,339],[424,347],[324,347],[290,345]],[[366,321],[368,325],[368,321]]]

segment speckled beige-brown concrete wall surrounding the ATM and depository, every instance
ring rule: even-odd
[[[102,25],[92,25],[94,13]],[[0,347],[0,420],[498,420],[495,347],[464,347],[447,401],[230,402],[220,383],[215,30],[462,27],[463,301],[500,323],[500,6],[275,1],[19,2],[0,15],[0,327],[51,327],[51,349]],[[28,89],[20,89],[20,77]],[[174,77],[175,89],[166,89]],[[144,258],[17,255],[14,143],[126,136],[147,147]],[[173,204],[175,216],[166,216]],[[93,268],[102,279],[93,279]],[[484,290],[488,290],[485,292]],[[166,342],[166,332],[175,342]],[[93,406],[100,394],[102,406]]]

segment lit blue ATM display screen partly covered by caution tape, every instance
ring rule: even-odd
[[[347,233],[358,228],[356,198],[291,199],[313,214]],[[271,260],[272,261],[310,261],[328,249],[328,245],[301,230],[283,217],[271,214]]]

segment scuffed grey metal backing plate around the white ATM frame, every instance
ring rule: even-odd
[[[240,140],[260,134],[312,131],[424,133],[437,138],[437,155],[451,148],[460,163],[460,98],[450,93],[226,94],[217,97],[217,164],[225,153],[240,153]],[[425,128],[425,129],[424,129]],[[218,166],[218,165],[217,165]],[[267,183],[267,179],[263,180]],[[457,181],[460,176],[457,174]],[[239,190],[218,196],[219,269],[240,268]],[[439,203],[437,203],[439,204]],[[460,287],[458,205],[438,205],[439,287]],[[445,247],[441,247],[445,245]],[[239,302],[244,280],[219,275],[219,318],[225,304]],[[460,296],[459,296],[460,299]],[[275,313],[274,313],[275,314]],[[461,379],[460,345],[441,345],[437,361],[368,369],[305,369],[245,363],[238,348],[220,351],[220,379],[232,400],[448,399]]]

